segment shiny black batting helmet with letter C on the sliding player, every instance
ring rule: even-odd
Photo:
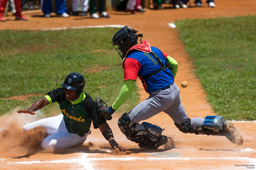
[[[76,72],[70,73],[69,75],[67,75],[64,83],[61,84],[61,86],[64,88],[77,91],[76,94],[78,96],[83,92],[84,85],[85,85],[84,76]]]

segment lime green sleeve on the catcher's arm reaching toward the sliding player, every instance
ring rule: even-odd
[[[113,109],[120,107],[131,95],[135,80],[125,80],[121,91],[112,105]]]

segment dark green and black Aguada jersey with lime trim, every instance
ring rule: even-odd
[[[66,100],[62,87],[48,92],[45,97],[50,104],[58,102],[69,133],[88,133],[92,122],[95,129],[106,122],[106,119],[97,113],[96,102],[85,92],[82,92],[73,104]]]

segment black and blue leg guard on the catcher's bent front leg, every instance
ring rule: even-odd
[[[162,128],[157,125],[152,125],[147,122],[143,122],[145,131],[135,131],[135,123],[131,123],[131,120],[127,113],[124,113],[120,119],[118,119],[118,127],[127,139],[139,144],[141,149],[151,150],[157,149],[159,146],[167,143],[167,136],[161,135]]]

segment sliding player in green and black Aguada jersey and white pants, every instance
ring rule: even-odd
[[[47,137],[42,141],[42,149],[65,149],[83,144],[91,134],[90,127],[99,128],[102,135],[110,143],[113,150],[125,151],[114,139],[111,128],[106,119],[97,112],[96,102],[83,92],[85,78],[79,73],[66,76],[62,87],[48,92],[45,97],[38,99],[31,107],[18,110],[17,113],[35,115],[35,111],[42,107],[58,102],[62,114],[43,118],[23,126],[23,130],[30,130],[42,126],[47,130]]]

